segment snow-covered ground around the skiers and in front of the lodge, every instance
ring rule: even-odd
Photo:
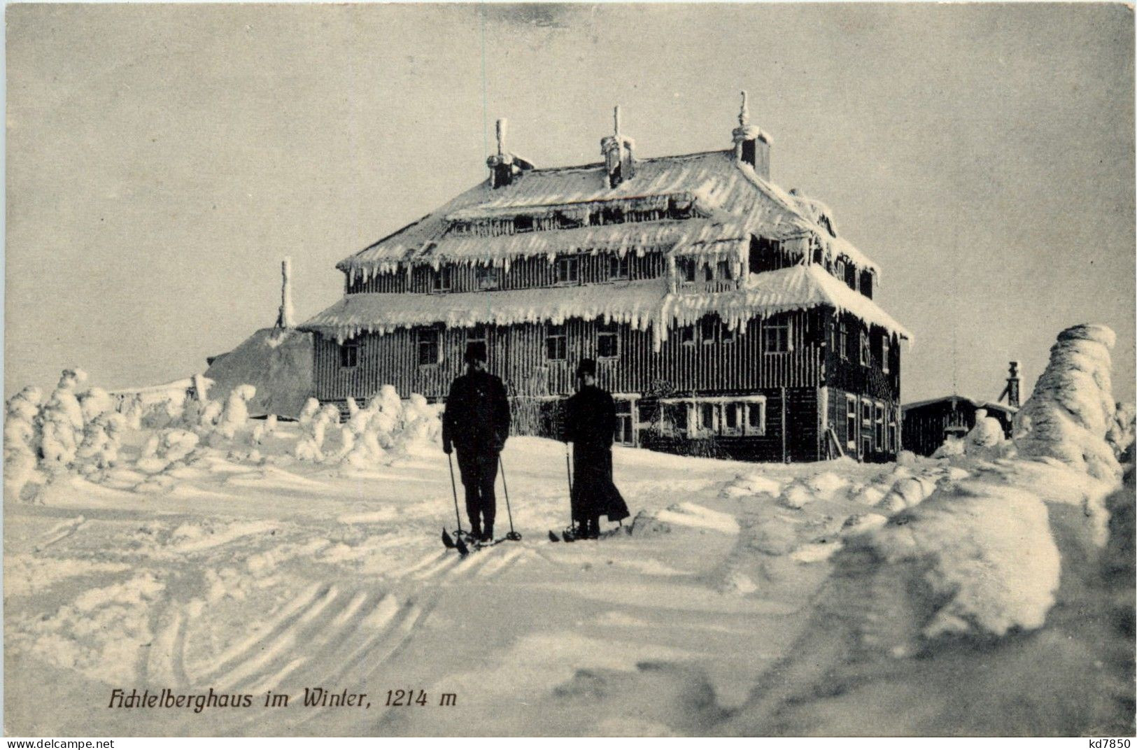
[[[1074,359],[1099,369],[1084,333]],[[1104,434],[1131,436],[1115,425],[1131,411],[1078,377],[1040,382],[1030,458],[984,424],[956,455],[888,465],[616,448],[634,523],[572,544],[547,538],[566,523],[565,447],[513,438],[524,539],[465,559],[439,541],[454,500],[422,403],[388,393],[341,428],[238,403],[151,427],[88,415],[76,436],[74,382],[23,428],[39,394],[17,398],[6,731],[1131,734],[1132,469]],[[28,464],[20,441],[45,426],[53,450]],[[370,707],[305,707],[305,688]],[[108,709],[115,689],[252,699]],[[387,706],[398,690],[425,705]]]

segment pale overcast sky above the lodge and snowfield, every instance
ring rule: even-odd
[[[832,207],[916,335],[905,401],[1029,389],[1117,331],[1134,398],[1134,48],[1121,5],[8,6],[5,392],[131,386],[304,319],[337,260],[485,176],[728,148]],[[1024,390],[1026,398],[1029,390]]]

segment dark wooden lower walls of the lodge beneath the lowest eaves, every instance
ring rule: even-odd
[[[561,336],[563,344],[550,343]],[[601,349],[601,336],[609,338],[609,349]],[[422,393],[442,400],[473,340],[485,342],[489,369],[507,385],[520,434],[559,435],[561,405],[575,389],[575,365],[589,357],[597,360],[600,386],[616,394],[625,414],[620,439],[629,444],[745,460],[896,455],[898,342],[831,308],[755,317],[740,331],[708,315],[670,328],[658,349],[653,330],[581,318],[561,326],[401,328],[345,344],[319,336],[315,395],[346,405],[348,397],[366,399],[389,383],[405,398]],[[354,352],[346,356],[346,348]],[[423,355],[428,361],[421,361]],[[865,426],[854,425],[852,438],[849,395],[858,419],[869,409]],[[756,424],[749,422],[752,411]]]

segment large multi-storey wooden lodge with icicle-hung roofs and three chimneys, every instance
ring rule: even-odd
[[[617,440],[753,460],[899,445],[902,339],[877,265],[823,203],[770,181],[744,94],[730,149],[537,168],[505,123],[485,182],[341,260],[346,294],[302,323],[314,394],[384,383],[445,399],[484,341],[518,432],[554,435],[582,357],[617,399]]]

